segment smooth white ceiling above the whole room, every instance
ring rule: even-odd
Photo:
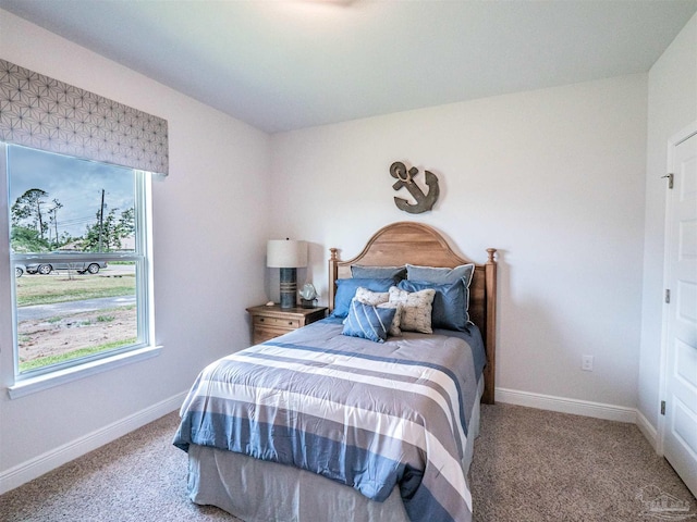
[[[0,0],[267,133],[647,72],[697,0]]]

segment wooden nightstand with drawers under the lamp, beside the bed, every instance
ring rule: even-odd
[[[273,304],[247,308],[252,315],[252,343],[258,345],[279,335],[288,334],[307,324],[325,319],[326,307],[284,308]]]

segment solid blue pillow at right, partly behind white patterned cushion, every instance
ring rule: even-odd
[[[401,281],[398,285],[406,291],[418,291],[426,288],[436,290],[431,324],[433,328],[447,328],[464,332],[469,320],[467,301],[465,300],[465,282],[460,278],[452,285],[424,283],[417,281]]]

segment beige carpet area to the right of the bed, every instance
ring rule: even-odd
[[[697,521],[695,498],[634,424],[530,408],[484,407],[470,487],[479,522]],[[661,495],[688,510],[651,509]]]

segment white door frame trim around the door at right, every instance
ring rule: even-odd
[[[665,172],[670,173],[673,169],[673,163],[675,161],[675,148],[681,145],[683,141],[688,140],[693,136],[697,135],[697,121],[694,121],[686,127],[684,127],[678,133],[671,136],[668,140],[668,154],[665,162]],[[668,288],[670,277],[671,277],[671,265],[670,265],[670,250],[669,250],[669,241],[671,240],[671,221],[670,217],[674,211],[672,203],[672,192],[668,188],[668,183],[665,184],[665,215],[663,216],[663,288]],[[661,362],[659,366],[660,372],[660,382],[659,382],[659,398],[658,405],[659,414],[658,414],[658,436],[656,440],[656,452],[663,457],[663,448],[665,443],[665,415],[660,413],[660,403],[661,400],[665,400],[665,395],[668,394],[668,319],[669,311],[665,304],[663,304],[662,313],[661,313]]]

